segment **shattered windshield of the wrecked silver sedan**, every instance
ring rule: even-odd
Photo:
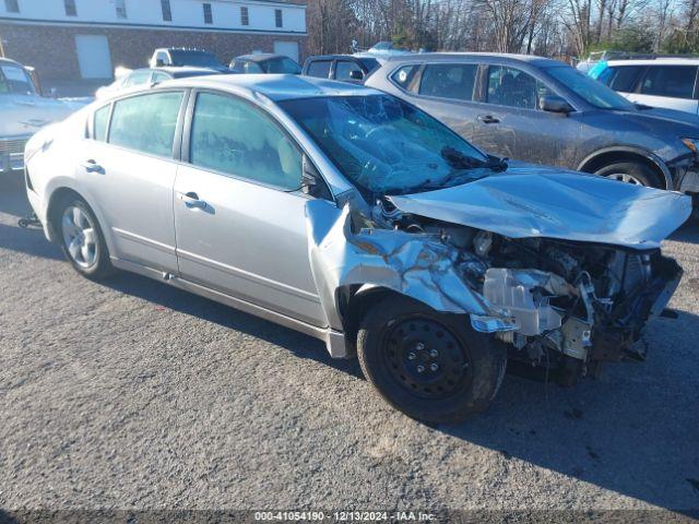
[[[280,105],[364,191],[427,191],[503,169],[501,162],[393,96],[329,96]]]

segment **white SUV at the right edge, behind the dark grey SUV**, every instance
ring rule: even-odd
[[[635,104],[697,115],[698,69],[696,58],[609,60],[606,68],[593,68],[590,74]]]

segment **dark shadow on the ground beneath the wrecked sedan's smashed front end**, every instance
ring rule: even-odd
[[[518,458],[699,517],[697,340],[696,314],[655,319],[640,341],[645,361],[606,364],[571,389],[508,376],[487,413],[433,428],[506,464]]]

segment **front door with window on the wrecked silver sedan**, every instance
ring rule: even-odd
[[[181,277],[319,325],[300,151],[247,100],[200,92],[193,102],[174,194]]]

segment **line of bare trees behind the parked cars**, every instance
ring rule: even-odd
[[[699,52],[699,0],[308,0],[309,51]]]

